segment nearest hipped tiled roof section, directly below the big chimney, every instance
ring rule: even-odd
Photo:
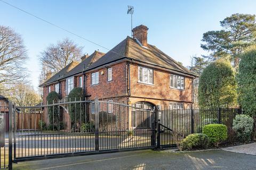
[[[162,66],[166,69],[170,69],[173,71],[195,75],[193,72],[189,71],[186,67],[178,64],[178,62],[173,60],[170,56],[166,55],[155,46],[148,44],[146,48],[142,47],[136,39],[129,36],[127,36],[126,39],[124,39],[121,43],[119,43],[108,53],[102,56],[98,61],[87,67],[86,70],[90,70],[107,63],[121,60],[125,57],[132,58],[133,60],[138,60],[141,62],[146,62],[149,64]]]

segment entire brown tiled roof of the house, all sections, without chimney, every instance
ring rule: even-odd
[[[70,77],[72,75],[81,73],[82,71],[89,71],[99,66],[122,60],[123,58],[130,58],[139,62],[145,62],[148,64],[164,67],[165,69],[197,76],[194,72],[191,72],[186,67],[178,64],[178,62],[159,50],[156,46],[148,44],[147,47],[142,47],[138,43],[137,39],[127,36],[123,41],[121,41],[121,43],[116,45],[113,49],[109,50],[108,53],[104,54],[95,51],[84,61],[76,64],[73,69],[67,69],[66,67],[69,66],[66,66],[59,73],[53,75],[52,78],[40,86],[44,86],[45,84]]]

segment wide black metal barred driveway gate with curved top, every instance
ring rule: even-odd
[[[112,101],[64,101],[17,107],[14,160],[155,147],[154,111]],[[131,113],[141,118],[132,126]]]

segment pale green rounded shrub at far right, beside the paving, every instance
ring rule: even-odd
[[[233,129],[237,133],[238,140],[250,141],[253,131],[253,118],[247,115],[236,115],[233,120]]]

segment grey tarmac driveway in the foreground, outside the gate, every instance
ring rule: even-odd
[[[255,159],[223,150],[180,154],[140,150],[22,162],[14,169],[255,169]]]

